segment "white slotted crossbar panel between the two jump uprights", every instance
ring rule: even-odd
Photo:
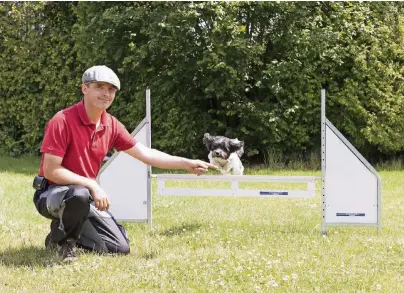
[[[251,197],[285,197],[309,198],[314,196],[315,181],[321,177],[314,176],[217,176],[217,175],[184,175],[161,174],[157,178],[157,194],[173,196],[251,196]],[[214,188],[168,188],[166,181],[227,181],[230,189]],[[306,190],[268,190],[268,189],[239,189],[239,182],[287,182],[307,183]]]

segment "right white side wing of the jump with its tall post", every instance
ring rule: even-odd
[[[381,230],[381,179],[326,117],[321,90],[322,233],[327,226],[376,226]]]

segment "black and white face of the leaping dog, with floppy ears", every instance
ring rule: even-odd
[[[244,153],[244,141],[237,138],[231,139],[225,136],[212,136],[205,133],[203,143],[212,157],[216,159],[227,160],[232,153],[237,153],[241,157]]]

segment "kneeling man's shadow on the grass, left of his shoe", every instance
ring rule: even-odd
[[[56,250],[35,246],[0,251],[0,264],[10,267],[50,267],[60,264]]]

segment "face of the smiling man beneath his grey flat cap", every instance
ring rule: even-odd
[[[106,110],[114,101],[117,88],[107,82],[92,82],[82,84],[84,99],[91,106]]]

